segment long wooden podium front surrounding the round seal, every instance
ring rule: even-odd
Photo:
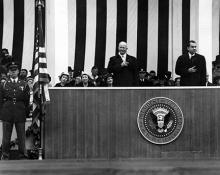
[[[46,159],[220,158],[219,88],[50,89],[45,118]],[[154,97],[175,101],[184,115],[179,137],[147,141],[137,126]]]

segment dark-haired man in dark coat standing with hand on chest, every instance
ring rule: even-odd
[[[187,45],[188,53],[181,55],[176,62],[176,74],[181,76],[181,86],[206,85],[206,60],[196,53],[196,42],[191,40]]]

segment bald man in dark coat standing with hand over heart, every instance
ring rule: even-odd
[[[108,63],[109,73],[113,73],[114,86],[137,86],[138,71],[137,60],[127,54],[127,43],[120,42],[119,53],[110,58]]]

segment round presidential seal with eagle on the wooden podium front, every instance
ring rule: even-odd
[[[156,97],[139,110],[137,124],[141,134],[154,144],[167,144],[182,131],[184,118],[180,107],[171,99]]]

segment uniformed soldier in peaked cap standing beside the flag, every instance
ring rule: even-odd
[[[27,157],[25,148],[25,121],[29,113],[29,87],[18,78],[19,65],[15,62],[7,66],[9,78],[0,86],[0,120],[3,124],[2,160],[9,159],[10,140],[15,125],[19,158]]]

